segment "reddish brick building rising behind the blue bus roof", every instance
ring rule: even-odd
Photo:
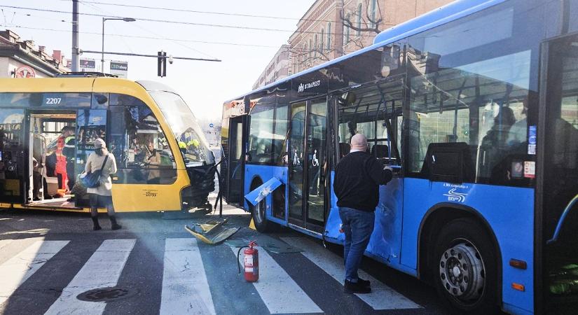
[[[289,38],[291,72],[346,55],[394,27],[453,0],[317,0]]]

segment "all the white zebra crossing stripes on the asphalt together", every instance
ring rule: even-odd
[[[301,254],[305,258],[343,283],[343,260],[338,255],[325,251],[322,246],[306,237],[282,237],[282,239],[292,246],[302,248]],[[62,290],[62,294],[46,314],[102,314],[106,307],[105,302],[85,302],[76,297],[87,290],[116,286],[123,269],[127,267],[126,262],[136,241],[136,239],[103,241],[74,279]],[[0,248],[10,245],[11,242],[0,241]],[[31,241],[27,241],[24,244],[30,243]],[[34,241],[20,253],[0,264],[0,304],[6,302],[22,283],[67,244],[69,241]],[[231,249],[236,255],[238,248]],[[259,249],[260,279],[253,285],[268,311],[271,314],[322,313],[323,310],[269,253],[263,248]],[[214,298],[196,239],[165,239],[162,267],[163,283],[159,309],[161,315],[216,314]],[[373,309],[420,308],[420,305],[369,274],[361,270],[359,274],[371,281],[373,292],[358,297]]]

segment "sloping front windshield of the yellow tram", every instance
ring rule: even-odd
[[[172,92],[150,91],[149,93],[167,119],[186,165],[194,166],[203,162],[213,164],[214,156],[209,151],[209,145],[204,137],[200,137],[202,131],[183,99]]]

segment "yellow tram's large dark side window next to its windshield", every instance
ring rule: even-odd
[[[167,137],[148,107],[111,106],[111,152],[123,183],[172,183],[176,164]]]

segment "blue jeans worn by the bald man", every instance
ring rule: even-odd
[[[364,251],[369,244],[376,214],[373,211],[339,207],[339,217],[343,223],[343,232],[345,232],[345,244],[343,244],[345,280],[357,282],[359,279],[357,269],[362,263]]]

